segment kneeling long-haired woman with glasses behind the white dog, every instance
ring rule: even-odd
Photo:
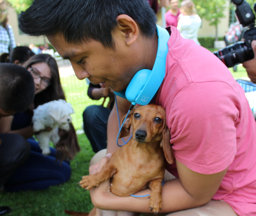
[[[27,68],[34,78],[34,103],[26,112],[17,113],[9,118],[9,122],[5,124],[10,125],[9,131],[5,131],[5,133],[20,134],[28,139],[31,151],[25,164],[17,169],[4,185],[6,191],[40,190],[48,188],[51,185],[66,182],[70,179],[71,175],[69,159],[73,159],[76,152],[80,150],[76,131],[72,123],[70,123],[70,131],[59,129],[59,135],[61,136],[62,134],[67,139],[60,140],[56,148],[63,149],[63,146],[70,144],[72,145],[71,150],[60,154],[55,148],[51,148],[51,153],[48,156],[44,156],[41,153],[38,142],[32,137],[34,134],[31,127],[32,110],[46,102],[65,99],[65,95],[61,87],[58,66],[52,56],[49,54],[34,55],[23,64],[23,67]],[[56,156],[62,163],[59,160],[55,163]],[[18,177],[21,175],[24,176],[22,179]]]

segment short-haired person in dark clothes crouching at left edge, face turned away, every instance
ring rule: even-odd
[[[0,63],[0,118],[25,111],[34,99],[35,85],[26,68]],[[28,159],[29,142],[18,134],[0,133],[0,191],[15,170]],[[9,213],[9,207],[0,207]]]

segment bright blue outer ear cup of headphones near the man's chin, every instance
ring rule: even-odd
[[[151,72],[151,70],[142,69],[134,75],[125,91],[125,97],[128,101],[136,104],[135,99],[140,95],[140,91],[148,81]]]

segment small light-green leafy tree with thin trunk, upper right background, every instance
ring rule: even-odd
[[[198,15],[209,21],[210,26],[215,26],[215,40],[218,40],[218,23],[225,17],[224,10],[227,0],[193,0]]]

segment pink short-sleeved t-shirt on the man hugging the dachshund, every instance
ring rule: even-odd
[[[166,109],[175,158],[198,173],[228,167],[213,199],[256,215],[256,122],[244,90],[214,54],[171,30],[156,104]],[[166,168],[177,176],[175,164]]]

